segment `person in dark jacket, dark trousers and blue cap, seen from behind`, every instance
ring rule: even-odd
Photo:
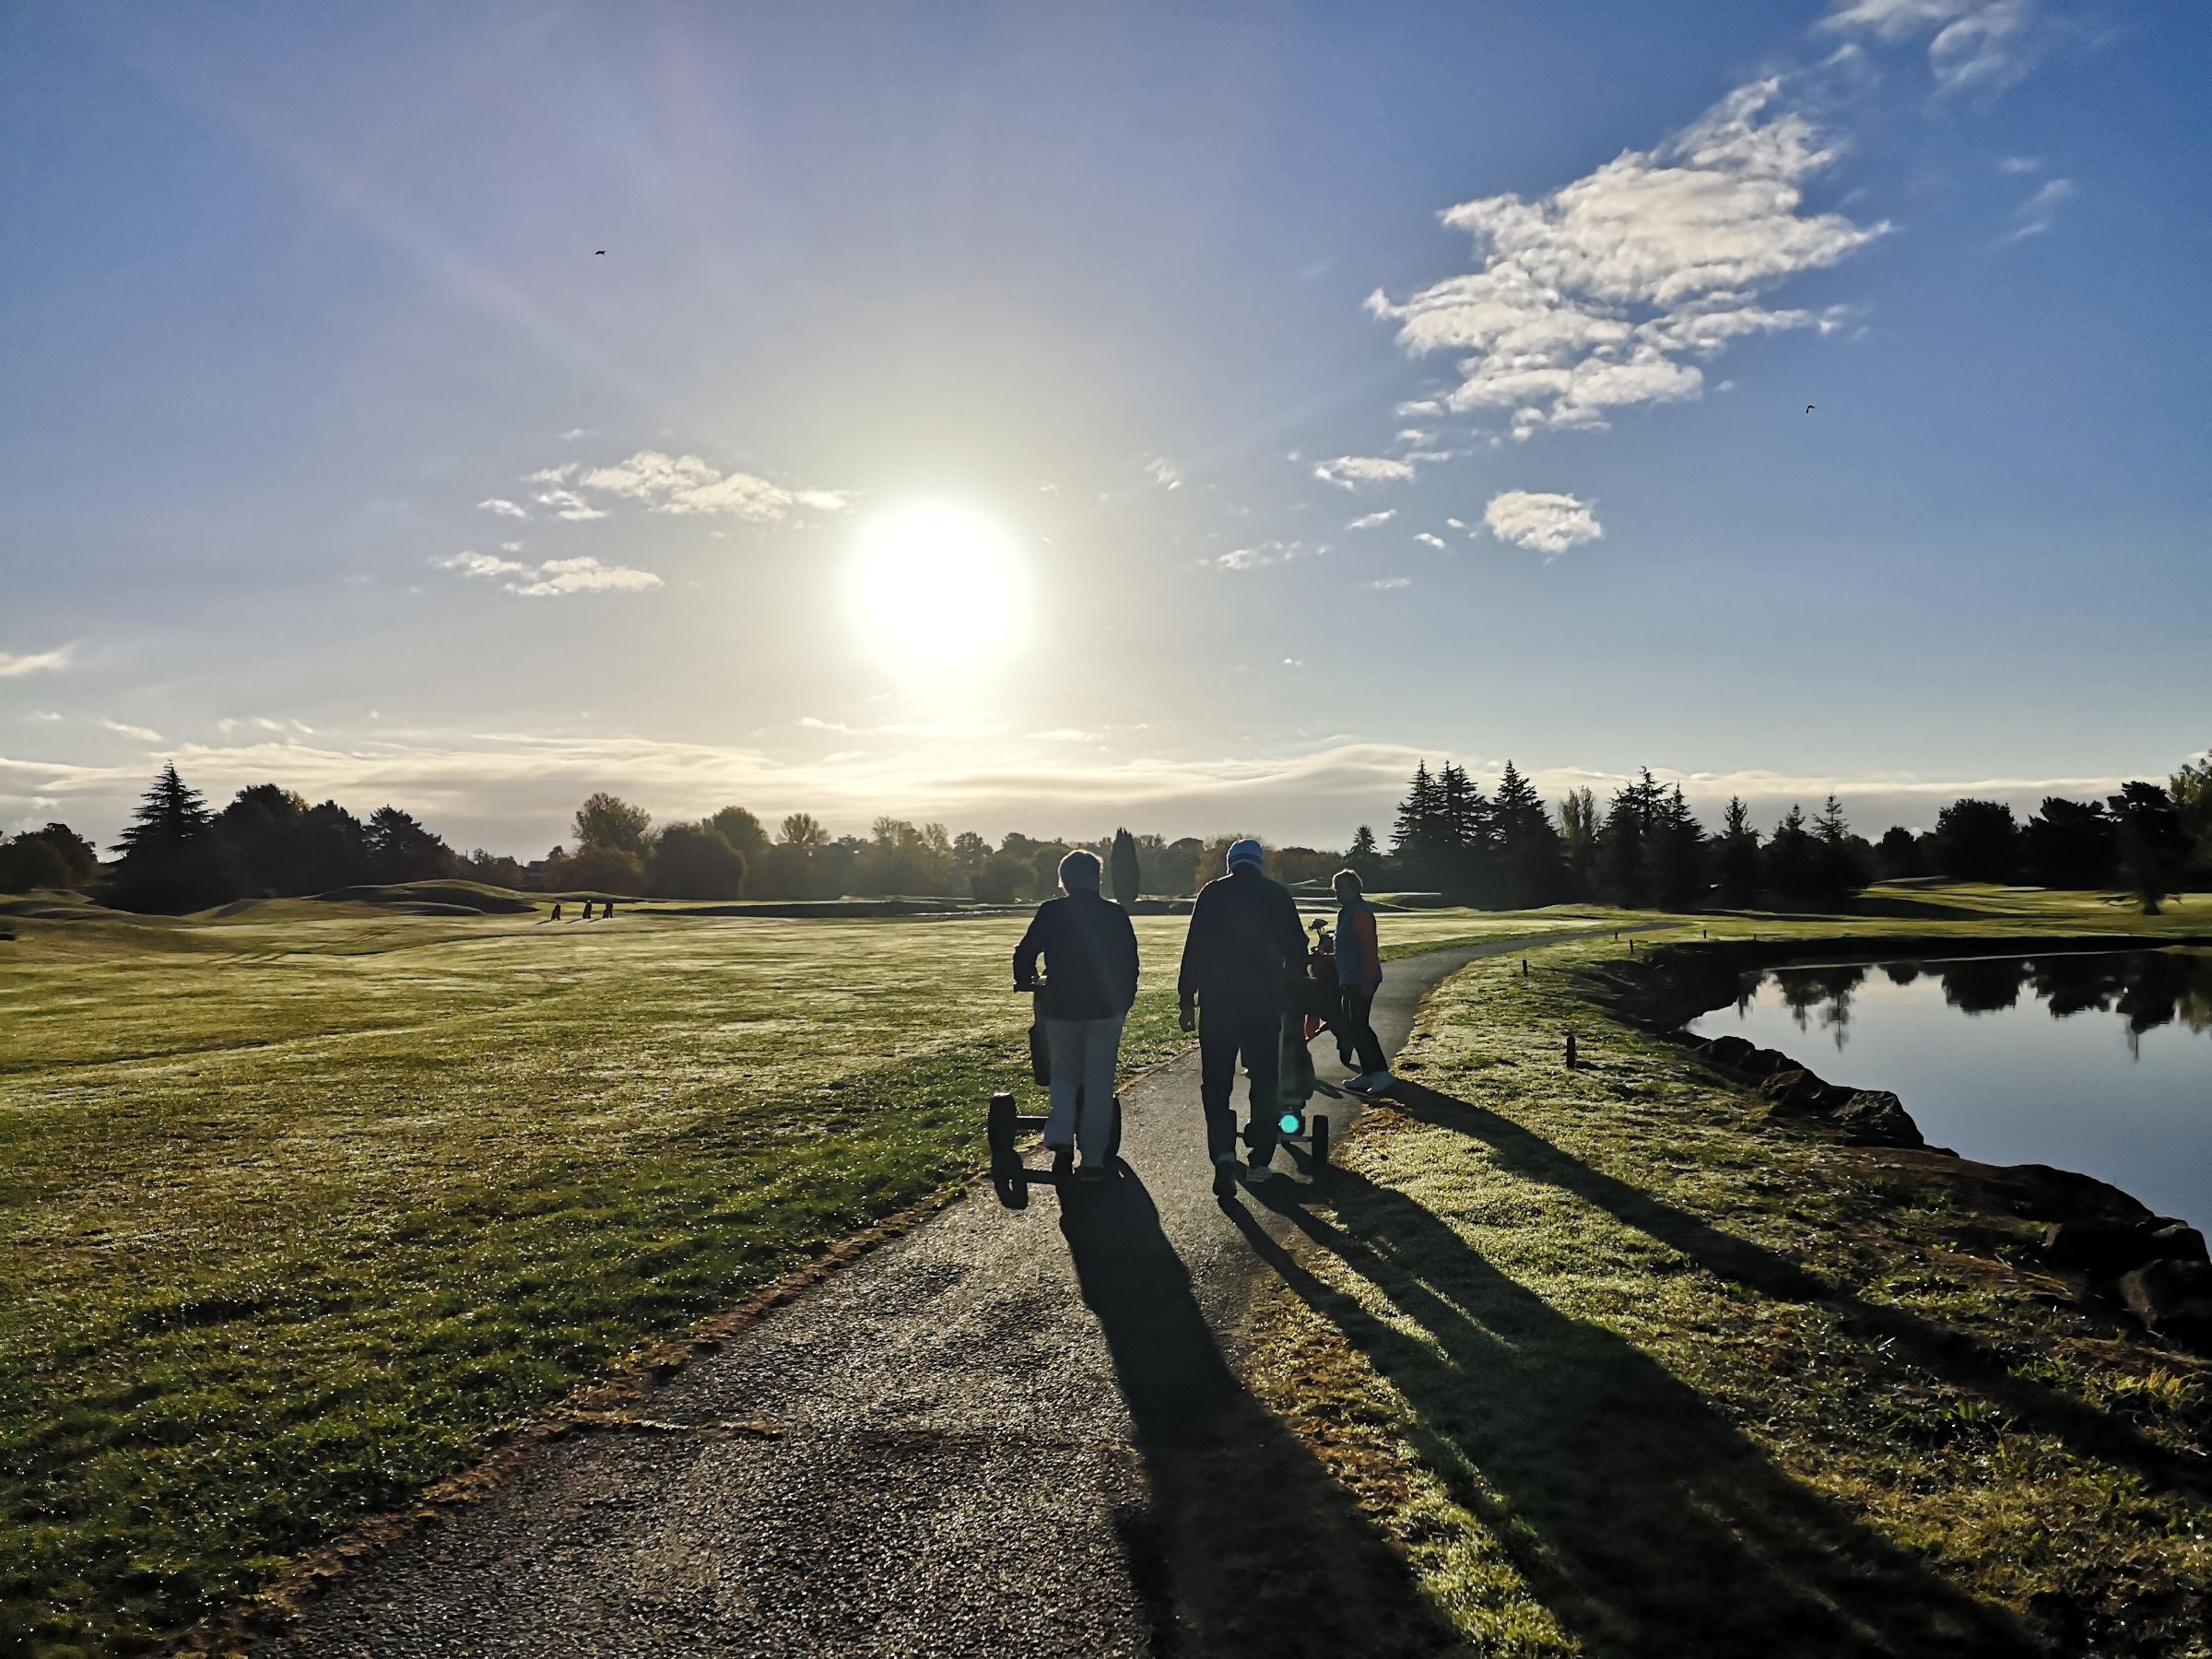
[[[1305,929],[1290,889],[1263,874],[1256,841],[1230,843],[1228,874],[1199,891],[1183,936],[1183,973],[1177,995],[1183,1031],[1199,1031],[1199,1102],[1206,1108],[1206,1150],[1214,1159],[1214,1194],[1237,1190],[1237,1062],[1252,1073],[1252,1115],[1245,1124],[1250,1179],[1274,1175],[1281,1095],[1283,1015],[1294,980],[1305,973]]]

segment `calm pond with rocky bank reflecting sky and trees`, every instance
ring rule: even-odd
[[[2212,1225],[2208,951],[1787,967],[1690,1031],[1889,1088],[1931,1146],[2081,1170]]]

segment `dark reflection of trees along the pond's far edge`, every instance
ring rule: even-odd
[[[2132,1037],[2166,1024],[2212,1033],[2212,956],[2190,951],[2097,951],[2090,956],[1973,956],[1927,962],[1854,962],[1838,967],[1774,969],[1745,980],[1736,1013],[1750,1013],[1772,987],[1798,1031],[1820,1031],[1840,1051],[1849,1037],[1851,1004],[1869,975],[1893,987],[1920,978],[1942,987],[1944,1004],[1969,1015],[2004,1013],[2022,993],[2044,1004],[2053,1020],[2077,1013],[2115,1013]]]

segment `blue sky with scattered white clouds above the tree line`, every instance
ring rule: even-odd
[[[2212,741],[2203,9],[1190,13],[7,11],[0,825],[1878,832]]]

